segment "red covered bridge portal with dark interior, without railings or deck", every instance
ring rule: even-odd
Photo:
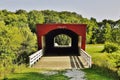
[[[65,34],[71,38],[71,46],[56,47],[54,38]],[[46,56],[79,55],[79,50],[85,50],[85,24],[37,24],[38,48],[43,49]]]

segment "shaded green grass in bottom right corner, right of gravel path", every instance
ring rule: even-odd
[[[95,64],[92,65],[92,68],[85,69],[84,71],[88,80],[120,80],[117,72],[105,67],[99,67]]]

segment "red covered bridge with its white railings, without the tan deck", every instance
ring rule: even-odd
[[[69,56],[71,67],[72,63],[74,66],[78,66],[77,64],[80,63],[79,68],[82,64],[83,67],[91,67],[91,57],[84,51],[86,24],[37,24],[36,26],[39,51],[29,56],[30,66],[42,56],[42,58],[46,56],[47,58],[48,56]],[[61,34],[70,37],[70,46],[55,45],[55,37]]]

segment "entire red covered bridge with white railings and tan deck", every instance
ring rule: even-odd
[[[30,66],[35,64],[34,68],[43,69],[91,67],[91,56],[84,51],[85,24],[37,24],[36,26],[39,50],[29,56]]]

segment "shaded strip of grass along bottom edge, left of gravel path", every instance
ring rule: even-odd
[[[62,73],[48,76],[37,72],[29,72],[11,74],[6,80],[68,80],[68,77]]]

